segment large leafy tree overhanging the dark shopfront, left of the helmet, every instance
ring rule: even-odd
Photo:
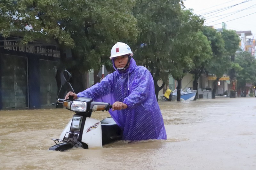
[[[0,3],[0,33],[23,36],[30,41],[55,41],[63,65],[73,75],[75,92],[84,90],[82,75],[110,61],[117,41],[136,41],[137,20],[131,9],[134,0],[24,0]],[[66,59],[66,48],[72,58]],[[110,62],[108,62],[110,63]],[[60,72],[60,71],[58,71]]]

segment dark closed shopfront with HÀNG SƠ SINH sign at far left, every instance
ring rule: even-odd
[[[60,51],[54,44],[20,44],[0,36],[0,109],[44,108],[56,102]]]

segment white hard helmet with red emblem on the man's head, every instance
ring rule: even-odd
[[[131,48],[123,43],[123,42],[117,42],[111,49],[111,55],[110,55],[110,59],[114,58],[114,57],[118,57],[121,55],[126,55],[126,54],[130,54],[131,56],[133,55]]]

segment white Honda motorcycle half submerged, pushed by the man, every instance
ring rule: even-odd
[[[70,73],[65,70],[61,77],[60,91],[63,88],[73,91],[69,81]],[[58,95],[59,96],[59,95]],[[79,97],[73,100],[70,96],[69,100],[58,99],[53,105],[63,104],[66,109],[75,112],[75,115],[68,122],[60,134],[59,139],[52,139],[55,145],[49,148],[53,151],[65,151],[72,147],[82,147],[90,149],[94,147],[102,147],[105,144],[115,142],[122,139],[122,131],[112,117],[105,118],[101,121],[91,118],[93,111],[108,111],[112,108],[109,103],[95,102],[90,98]]]

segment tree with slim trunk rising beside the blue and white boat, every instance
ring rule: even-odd
[[[170,48],[170,73],[177,80],[177,101],[180,101],[180,88],[182,78],[195,66],[194,60],[201,53],[204,46],[202,42],[209,42],[200,31],[204,20],[193,14],[191,10],[183,10],[180,16],[180,30],[174,38],[173,47]],[[207,49],[206,49],[207,50]]]

